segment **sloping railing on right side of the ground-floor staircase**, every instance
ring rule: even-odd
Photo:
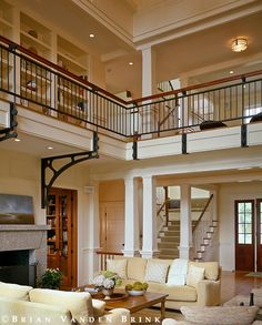
[[[206,232],[209,232],[210,226],[212,225],[213,214],[211,211],[209,211],[208,213],[208,209],[212,200],[213,200],[213,194],[210,195],[192,231],[193,247],[194,247],[195,256],[198,256],[198,251],[200,251],[201,244],[203,244],[203,238],[206,236]]]

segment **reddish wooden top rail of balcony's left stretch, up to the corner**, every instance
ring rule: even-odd
[[[94,83],[91,83],[91,82],[82,79],[81,77],[79,77],[79,75],[77,75],[77,74],[74,74],[74,73],[72,73],[72,72],[70,72],[68,70],[64,70],[62,67],[59,67],[58,64],[56,64],[56,63],[53,63],[53,62],[51,62],[51,61],[49,61],[49,60],[36,54],[36,53],[32,53],[31,51],[27,50],[22,45],[19,45],[18,43],[16,43],[13,41],[10,41],[9,39],[7,39],[7,38],[4,38],[2,35],[0,35],[0,41],[2,43],[4,43],[4,44],[9,45],[9,47],[13,47],[14,49],[19,50],[20,52],[22,52],[22,53],[33,58],[34,60],[48,65],[49,68],[52,68],[52,69],[54,69],[54,70],[57,70],[57,71],[59,71],[59,72],[61,72],[61,73],[63,73],[63,74],[66,74],[66,75],[68,75],[70,78],[72,78],[72,79],[81,82],[82,84],[85,84],[87,87],[91,88],[92,90],[95,90],[95,91],[98,91],[98,92],[100,92],[100,93],[113,99],[114,101],[118,101],[118,102],[127,105],[127,102],[124,100],[120,99],[119,97],[108,92],[107,90],[98,87]]]

